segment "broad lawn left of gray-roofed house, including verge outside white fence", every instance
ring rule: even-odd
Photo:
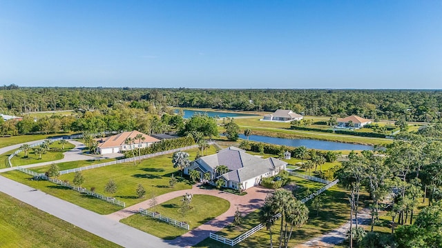
[[[195,158],[197,150],[198,149],[190,149],[186,151],[191,155],[191,160]],[[214,153],[214,147],[211,147],[207,152],[207,154]],[[137,162],[136,165],[133,163],[122,163],[85,170],[81,172],[85,178],[81,186],[87,189],[95,187],[95,192],[104,194],[105,196],[111,196],[111,194],[104,192],[104,186],[110,179],[113,179],[117,184],[117,192],[113,194],[113,196],[117,198],[117,200],[124,201],[126,207],[128,207],[145,200],[137,198],[136,196],[135,189],[137,189],[138,184],[144,186],[147,196],[151,196],[152,194],[160,196],[176,190],[191,189],[189,180],[180,177],[178,177],[178,183],[173,188],[170,187],[169,179],[171,178],[171,174],[176,171],[172,164],[172,154],[166,154],[145,159],[142,163]],[[30,176],[22,172],[6,172],[3,175],[99,214],[110,214],[120,209],[115,205],[106,203],[103,200],[98,200],[97,198],[90,200],[88,196],[47,181],[31,181]],[[61,175],[59,179],[72,182],[74,175],[74,173]]]

